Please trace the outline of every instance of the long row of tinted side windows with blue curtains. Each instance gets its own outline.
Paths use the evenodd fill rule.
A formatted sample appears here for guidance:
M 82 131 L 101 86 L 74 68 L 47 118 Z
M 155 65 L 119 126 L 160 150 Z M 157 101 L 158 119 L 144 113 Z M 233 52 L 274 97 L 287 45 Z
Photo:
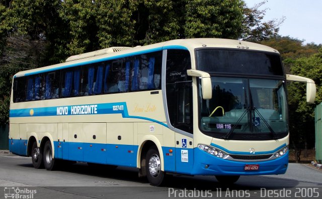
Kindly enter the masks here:
M 162 51 L 15 78 L 14 102 L 161 89 Z

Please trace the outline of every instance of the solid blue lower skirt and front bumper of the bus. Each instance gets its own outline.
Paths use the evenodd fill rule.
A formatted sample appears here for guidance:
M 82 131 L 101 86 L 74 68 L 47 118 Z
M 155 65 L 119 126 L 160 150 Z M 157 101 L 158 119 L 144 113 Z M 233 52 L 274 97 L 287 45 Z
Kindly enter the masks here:
M 27 140 L 10 139 L 10 151 L 18 155 L 26 156 L 26 143 Z M 173 149 L 172 155 L 167 155 L 169 149 Z M 197 147 L 187 149 L 164 146 L 162 150 L 165 171 L 191 175 L 283 174 L 287 169 L 289 154 L 287 152 L 282 157 L 269 161 L 244 162 L 221 159 Z M 188 160 L 186 162 L 181 159 L 182 150 L 188 151 Z M 57 159 L 137 167 L 138 145 L 54 141 L 54 151 L 54 157 Z M 260 169 L 256 171 L 245 171 L 245 164 L 259 164 Z

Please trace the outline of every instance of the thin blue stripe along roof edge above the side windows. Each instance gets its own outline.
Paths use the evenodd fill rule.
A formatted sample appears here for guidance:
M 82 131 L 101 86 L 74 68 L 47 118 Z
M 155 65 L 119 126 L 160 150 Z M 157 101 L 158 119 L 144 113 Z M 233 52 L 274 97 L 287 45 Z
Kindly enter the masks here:
M 94 63 L 109 61 L 109 60 L 113 60 L 113 59 L 121 59 L 124 57 L 135 56 L 135 55 L 140 55 L 140 54 L 144 54 L 144 53 L 153 53 L 156 51 L 170 50 L 170 49 L 188 50 L 188 48 L 186 48 L 184 46 L 179 46 L 179 45 L 164 46 L 164 47 L 158 47 L 158 48 L 153 48 L 153 49 L 149 49 L 149 50 L 127 53 L 127 54 L 123 54 L 123 55 L 117 55 L 117 56 L 113 56 L 113 57 L 107 57 L 107 58 L 102 58 L 102 59 L 97 59 L 97 60 L 92 60 L 92 61 L 87 61 L 87 62 L 81 62 L 81 63 L 60 66 L 60 67 L 56 67 L 56 68 L 44 69 L 41 71 L 26 73 L 22 76 L 29 76 L 29 75 L 39 74 L 39 73 L 46 73 L 46 72 L 56 71 L 56 70 L 60 70 L 60 69 L 66 69 L 66 68 L 71 68 L 71 67 L 76 67 L 76 66 L 87 65 L 87 64 L 94 64 Z M 15 75 L 14 78 L 16 78 L 16 77 L 17 76 Z M 19 77 L 21 77 L 21 76 L 19 75 Z

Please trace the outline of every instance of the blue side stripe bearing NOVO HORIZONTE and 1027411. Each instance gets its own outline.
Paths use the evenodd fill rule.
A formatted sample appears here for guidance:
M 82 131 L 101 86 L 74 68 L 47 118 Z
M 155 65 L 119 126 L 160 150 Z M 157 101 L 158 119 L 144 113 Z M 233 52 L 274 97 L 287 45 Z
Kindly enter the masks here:
M 90 108 L 89 108 L 90 107 Z M 67 112 L 64 112 L 67 108 Z M 84 108 L 87 110 L 80 110 L 77 108 Z M 96 109 L 95 109 L 96 108 Z M 61 114 L 58 113 L 59 110 Z M 75 110 L 76 112 L 73 111 Z M 91 110 L 90 110 L 91 109 Z M 97 111 L 96 113 L 94 111 Z M 85 112 L 86 111 L 86 112 Z M 84 113 L 82 113 L 84 112 Z M 168 128 L 168 125 L 157 121 L 155 119 L 129 115 L 126 102 L 117 102 L 117 103 L 103 103 L 103 104 L 82 104 L 82 105 L 69 105 L 69 106 L 52 106 L 52 107 L 41 107 L 41 108 L 25 108 L 25 109 L 11 109 L 10 117 L 39 117 L 39 116 L 66 116 L 66 115 L 97 115 L 97 114 L 122 114 L 123 118 L 133 118 L 133 119 L 142 119 L 151 122 L 161 124 Z

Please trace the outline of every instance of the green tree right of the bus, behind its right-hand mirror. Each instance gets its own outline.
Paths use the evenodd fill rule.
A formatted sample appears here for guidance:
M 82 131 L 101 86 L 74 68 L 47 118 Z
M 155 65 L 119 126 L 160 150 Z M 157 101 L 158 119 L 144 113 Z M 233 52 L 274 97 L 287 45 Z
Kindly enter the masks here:
M 308 77 L 316 84 L 315 103 L 322 101 L 322 48 L 317 54 L 295 59 L 291 63 L 291 74 Z M 295 148 L 314 146 L 314 107 L 306 103 L 305 84 L 288 84 L 288 103 L 290 109 L 290 139 Z

